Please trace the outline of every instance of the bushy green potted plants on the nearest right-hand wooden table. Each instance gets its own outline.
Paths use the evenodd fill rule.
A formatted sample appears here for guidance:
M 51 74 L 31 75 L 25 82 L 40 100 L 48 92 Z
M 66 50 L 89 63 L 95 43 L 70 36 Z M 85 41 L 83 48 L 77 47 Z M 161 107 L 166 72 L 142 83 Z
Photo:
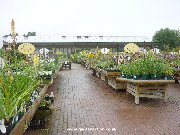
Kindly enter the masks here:
M 173 68 L 170 63 L 161 57 L 156 57 L 149 53 L 145 57 L 132 60 L 129 63 L 122 64 L 120 70 L 128 75 L 172 75 Z

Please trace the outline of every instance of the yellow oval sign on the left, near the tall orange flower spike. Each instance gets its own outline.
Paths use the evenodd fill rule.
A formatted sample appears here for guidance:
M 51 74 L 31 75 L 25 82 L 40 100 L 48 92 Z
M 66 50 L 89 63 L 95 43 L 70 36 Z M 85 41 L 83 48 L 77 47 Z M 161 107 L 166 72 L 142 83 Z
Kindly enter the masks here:
M 34 54 L 35 47 L 30 43 L 23 43 L 19 45 L 18 50 L 23 54 Z

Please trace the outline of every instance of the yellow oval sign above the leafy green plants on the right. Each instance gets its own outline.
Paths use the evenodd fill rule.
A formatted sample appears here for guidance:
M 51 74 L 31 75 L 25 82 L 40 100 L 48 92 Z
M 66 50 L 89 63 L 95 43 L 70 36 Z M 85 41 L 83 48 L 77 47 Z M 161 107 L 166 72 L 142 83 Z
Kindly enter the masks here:
M 138 52 L 138 50 L 139 50 L 139 47 L 136 44 L 134 44 L 134 43 L 129 43 L 129 44 L 127 44 L 124 47 L 124 51 L 126 53 L 133 53 L 133 54 L 135 54 L 136 52 Z

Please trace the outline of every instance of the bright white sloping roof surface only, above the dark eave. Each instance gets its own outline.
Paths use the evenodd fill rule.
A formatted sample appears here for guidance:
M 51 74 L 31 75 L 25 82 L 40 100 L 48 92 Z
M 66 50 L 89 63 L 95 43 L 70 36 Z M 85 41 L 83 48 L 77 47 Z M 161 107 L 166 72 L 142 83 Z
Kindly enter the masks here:
M 4 39 L 6 42 L 12 42 L 8 36 Z M 144 36 L 16 36 L 16 43 L 22 42 L 150 42 Z

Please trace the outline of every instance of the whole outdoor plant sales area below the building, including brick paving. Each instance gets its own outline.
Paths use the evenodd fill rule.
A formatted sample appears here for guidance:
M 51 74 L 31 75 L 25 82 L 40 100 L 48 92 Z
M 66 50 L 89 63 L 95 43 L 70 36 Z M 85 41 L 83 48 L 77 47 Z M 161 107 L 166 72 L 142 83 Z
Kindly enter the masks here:
M 0 49 L 0 135 L 180 135 L 178 45 L 65 54 L 17 44 L 14 29 Z

